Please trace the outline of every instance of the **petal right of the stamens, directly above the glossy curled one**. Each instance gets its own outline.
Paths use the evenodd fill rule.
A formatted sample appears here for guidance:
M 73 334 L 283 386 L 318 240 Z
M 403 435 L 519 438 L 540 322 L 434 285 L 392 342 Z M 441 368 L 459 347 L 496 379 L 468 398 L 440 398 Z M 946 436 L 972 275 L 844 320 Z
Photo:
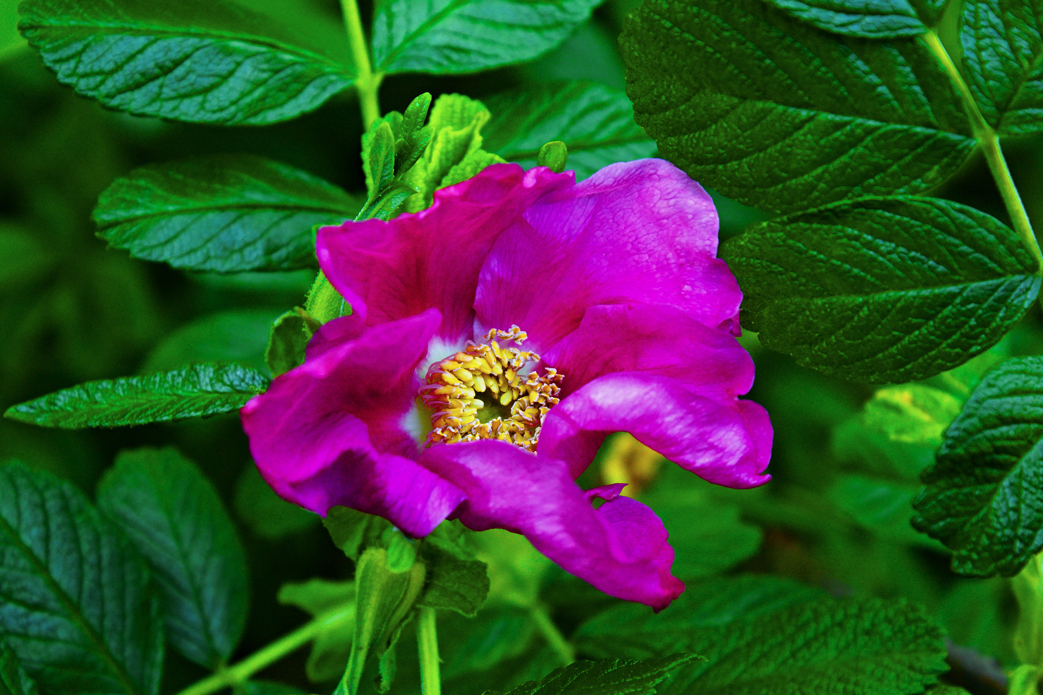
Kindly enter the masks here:
M 753 359 L 735 337 L 666 304 L 599 304 L 579 328 L 543 353 L 564 375 L 562 398 L 612 372 L 669 376 L 709 398 L 735 398 L 753 386 Z

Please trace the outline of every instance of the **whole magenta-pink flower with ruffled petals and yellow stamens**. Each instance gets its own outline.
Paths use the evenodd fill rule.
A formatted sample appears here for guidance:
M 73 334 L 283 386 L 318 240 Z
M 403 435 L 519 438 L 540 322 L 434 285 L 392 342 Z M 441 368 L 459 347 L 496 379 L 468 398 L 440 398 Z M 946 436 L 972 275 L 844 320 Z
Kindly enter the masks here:
M 446 518 L 523 533 L 598 589 L 664 607 L 684 585 L 662 522 L 623 486 L 575 480 L 614 431 L 711 482 L 769 479 L 768 414 L 737 399 L 753 362 L 717 231 L 709 196 L 660 159 L 580 183 L 495 165 L 415 215 L 321 228 L 319 265 L 355 314 L 242 409 L 261 473 L 308 510 L 414 537 Z

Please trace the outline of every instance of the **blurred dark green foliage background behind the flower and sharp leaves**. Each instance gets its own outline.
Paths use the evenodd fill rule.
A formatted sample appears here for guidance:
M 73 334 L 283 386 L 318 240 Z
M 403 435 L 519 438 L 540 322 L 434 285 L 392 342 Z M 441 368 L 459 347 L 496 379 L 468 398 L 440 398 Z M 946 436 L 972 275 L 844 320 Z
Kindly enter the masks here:
M 270 7 L 265 0 L 249 4 L 307 11 L 332 33 L 339 26 L 333 0 L 293 0 L 290 8 L 275 0 Z M 402 110 L 425 91 L 482 99 L 550 79 L 592 79 L 622 88 L 615 36 L 634 4 L 610 0 L 564 45 L 528 65 L 455 78 L 392 76 L 381 91 L 382 108 Z M 363 13 L 365 20 L 365 6 Z M 20 40 L 16 22 L 16 2 L 0 0 L 0 406 L 89 379 L 191 361 L 223 358 L 263 367 L 270 321 L 302 303 L 312 271 L 220 276 L 138 262 L 95 238 L 91 210 L 98 194 L 135 167 L 219 152 L 268 156 L 360 191 L 361 120 L 354 96 L 342 94 L 304 118 L 267 127 L 219 128 L 106 111 L 60 86 Z M 1004 147 L 1029 215 L 1043 224 L 1043 138 Z M 936 195 L 1006 221 L 979 156 Z M 720 199 L 719 204 L 723 235 L 759 219 L 756 210 L 732 201 Z M 744 338 L 744 344 L 757 362 L 751 397 L 768 407 L 776 428 L 774 480 L 756 491 L 727 491 L 660 469 L 662 479 L 650 483 L 646 497 L 666 521 L 679 557 L 687 552 L 684 571 L 695 578 L 720 571 L 772 572 L 840 595 L 907 596 L 939 616 L 955 643 L 1009 663 L 1014 603 L 1008 582 L 952 575 L 941 546 L 915 533 L 907 504 L 895 502 L 905 493 L 907 502 L 915 492 L 917 473 L 933 445 L 922 438 L 896 439 L 887 423 L 873 420 L 872 408 L 863 413 L 872 388 L 797 367 L 784 355 L 761 350 L 755 336 Z M 959 407 L 989 364 L 1041 351 L 1037 307 L 991 353 L 955 375 L 936 377 L 931 386 Z M 877 401 L 889 407 L 887 397 Z M 911 402 L 917 405 L 916 399 Z M 275 601 L 282 584 L 349 576 L 350 563 L 317 519 L 275 498 L 256 474 L 237 417 L 75 432 L 0 421 L 0 457 L 46 468 L 89 493 L 119 449 L 166 444 L 201 466 L 241 524 L 253 586 L 240 655 L 305 620 L 297 609 Z M 590 482 L 598 481 L 599 470 L 596 466 Z M 717 525 L 708 526 L 705 518 Z M 746 550 L 730 557 L 736 544 Z M 561 573 L 547 573 L 541 586 L 543 600 L 566 631 L 606 604 L 597 592 Z M 475 623 L 459 617 L 444 622 L 443 648 L 452 663 L 454 650 L 466 648 Z M 538 674 L 554 666 L 540 661 L 536 643 L 516 650 L 494 668 Z M 169 653 L 165 691 L 204 675 Z M 306 657 L 301 650 L 263 675 L 310 688 Z M 406 690 L 414 688 L 406 681 L 415 682 L 409 668 L 406 656 Z M 451 682 L 453 674 L 448 666 Z M 460 685 L 455 692 L 466 690 Z

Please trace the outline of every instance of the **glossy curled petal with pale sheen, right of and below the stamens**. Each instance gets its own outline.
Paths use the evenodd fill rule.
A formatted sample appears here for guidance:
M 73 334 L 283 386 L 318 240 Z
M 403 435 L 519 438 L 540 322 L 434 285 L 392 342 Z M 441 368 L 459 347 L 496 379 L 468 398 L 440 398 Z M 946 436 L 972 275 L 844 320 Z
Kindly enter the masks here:
M 772 427 L 752 401 L 718 400 L 635 372 L 601 376 L 551 408 L 536 451 L 578 477 L 612 432 L 626 431 L 701 478 L 729 488 L 768 482 Z

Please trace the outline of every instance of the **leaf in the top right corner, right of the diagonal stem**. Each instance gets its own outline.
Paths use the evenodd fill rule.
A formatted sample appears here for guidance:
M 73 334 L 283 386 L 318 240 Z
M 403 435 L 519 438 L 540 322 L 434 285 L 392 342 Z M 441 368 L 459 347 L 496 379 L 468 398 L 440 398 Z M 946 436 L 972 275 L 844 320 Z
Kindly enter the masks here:
M 978 109 L 1001 134 L 1043 128 L 1043 3 L 966 0 L 963 68 Z

